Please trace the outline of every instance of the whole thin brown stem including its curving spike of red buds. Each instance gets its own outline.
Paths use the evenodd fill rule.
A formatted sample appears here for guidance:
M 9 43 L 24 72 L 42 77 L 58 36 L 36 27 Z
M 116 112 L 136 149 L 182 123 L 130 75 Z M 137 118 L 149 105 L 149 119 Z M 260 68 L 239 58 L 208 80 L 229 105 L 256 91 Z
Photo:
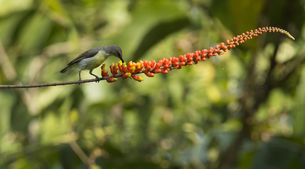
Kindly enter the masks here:
M 281 32 L 281 33 L 287 35 L 289 38 L 294 40 L 292 35 L 290 35 L 289 32 L 287 32 L 283 29 L 274 28 L 274 27 L 265 27 L 265 28 L 262 28 L 262 29 L 259 28 L 258 30 L 255 29 L 254 32 L 253 32 L 253 30 L 251 30 L 250 32 L 246 32 L 246 34 L 243 33 L 242 35 L 237 35 L 236 37 L 231 38 L 230 40 L 227 40 L 227 42 L 226 42 L 227 45 L 225 45 L 224 43 L 221 43 L 221 46 L 217 45 L 215 47 L 215 49 L 210 47 L 209 50 L 204 49 L 201 52 L 200 51 L 195 51 L 195 54 L 194 53 L 188 53 L 187 55 L 183 55 L 183 56 L 181 55 L 182 59 L 180 59 L 180 56 L 179 56 L 179 59 L 178 58 L 174 59 L 175 61 L 173 61 L 173 58 L 170 57 L 168 60 L 166 59 L 166 63 L 163 63 L 163 60 L 161 60 L 162 63 L 160 63 L 160 64 L 158 63 L 159 65 L 156 68 L 155 68 L 155 66 L 157 64 L 156 64 L 155 61 L 153 61 L 154 62 L 153 65 L 151 65 L 152 62 L 146 62 L 145 61 L 146 62 L 146 63 L 144 63 L 145 65 L 143 65 L 143 62 L 140 64 L 140 65 L 142 65 L 142 67 L 144 66 L 145 70 L 139 71 L 139 69 L 138 69 L 139 66 L 138 65 L 137 65 L 137 68 L 132 68 L 133 70 L 131 68 L 128 68 L 128 70 L 127 70 L 126 69 L 127 65 L 124 65 L 124 66 L 126 66 L 126 67 L 124 67 L 124 71 L 122 71 L 120 69 L 122 74 L 117 74 L 117 68 L 118 68 L 117 66 L 118 65 L 116 64 L 116 73 L 112 72 L 113 74 L 115 74 L 114 76 L 108 76 L 108 72 L 106 72 L 107 75 L 102 74 L 102 76 L 105 76 L 105 75 L 106 76 L 103 77 L 103 78 L 99 78 L 99 80 L 106 80 L 106 79 L 109 79 L 109 78 L 117 78 L 117 77 L 122 77 L 122 76 L 125 79 L 126 77 L 124 77 L 125 74 L 123 74 L 123 72 L 129 73 L 129 75 L 127 75 L 128 77 L 130 77 L 130 75 L 135 75 L 135 74 L 139 74 L 139 73 L 145 73 L 147 76 L 153 77 L 154 74 L 152 74 L 152 73 L 167 73 L 168 70 L 171 70 L 171 69 L 174 69 L 174 68 L 181 69 L 181 66 L 192 65 L 193 63 L 197 64 L 199 60 L 206 60 L 206 58 L 210 59 L 210 57 L 217 56 L 217 54 L 221 55 L 224 52 L 226 52 L 227 49 L 230 50 L 232 48 L 235 48 L 239 44 L 245 42 L 247 39 L 252 39 L 252 36 L 258 36 L 258 35 L 262 34 L 263 32 L 264 33 L 266 33 L 266 32 Z M 182 60 L 184 60 L 184 61 L 182 61 Z M 180 63 L 183 63 L 183 64 L 180 64 Z M 161 66 L 162 64 L 163 64 L 163 66 Z M 114 65 L 112 65 L 112 66 L 114 66 Z M 177 66 L 180 66 L 180 67 L 178 68 Z M 142 67 L 140 67 L 140 69 L 142 69 Z M 113 68 L 114 67 L 111 68 L 112 69 L 111 71 L 113 71 Z M 121 68 L 123 69 L 123 67 L 121 67 Z M 136 73 L 135 73 L 135 69 L 137 69 Z M 165 71 L 163 72 L 163 70 L 161 71 L 161 69 L 164 69 Z M 107 71 L 106 68 L 104 70 Z M 155 72 L 155 70 L 156 70 L 156 72 Z M 103 70 L 102 70 L 102 72 L 103 72 Z M 150 72 L 150 73 L 148 73 L 148 72 Z M 142 80 L 141 79 L 135 79 L 135 80 L 142 81 L 144 79 L 142 79 Z M 96 81 L 96 79 L 83 80 L 82 82 L 87 83 L 87 82 L 94 82 L 94 81 Z M 79 81 L 59 82 L 59 83 L 43 83 L 43 84 L 31 84 L 31 85 L 0 85 L 0 88 L 33 88 L 33 87 L 43 87 L 43 86 L 67 85 L 67 84 L 79 84 Z

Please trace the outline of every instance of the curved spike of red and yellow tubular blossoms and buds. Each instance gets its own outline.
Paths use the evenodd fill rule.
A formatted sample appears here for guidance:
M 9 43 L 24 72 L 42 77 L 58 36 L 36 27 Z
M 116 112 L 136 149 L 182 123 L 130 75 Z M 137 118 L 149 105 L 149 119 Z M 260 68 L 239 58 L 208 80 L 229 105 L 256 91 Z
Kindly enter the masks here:
M 130 61 L 129 63 L 112 63 L 110 66 L 110 72 L 113 74 L 112 77 L 107 79 L 107 82 L 114 82 L 117 80 L 115 77 L 122 77 L 123 79 L 127 79 L 128 77 L 132 77 L 134 80 L 138 82 L 143 81 L 144 79 L 140 76 L 136 76 L 135 74 L 144 73 L 148 77 L 154 77 L 154 74 L 163 73 L 166 74 L 168 71 L 172 69 L 181 69 L 182 66 L 192 65 L 199 63 L 200 60 L 205 61 L 206 59 L 210 59 L 212 56 L 221 55 L 227 50 L 231 48 L 235 48 L 239 46 L 240 43 L 246 42 L 248 39 L 252 39 L 253 36 L 258 36 L 262 33 L 266 32 L 281 32 L 286 34 L 290 38 L 294 39 L 287 31 L 274 27 L 265 27 L 251 30 L 250 32 L 242 33 L 242 35 L 237 35 L 231 39 L 226 40 L 225 43 L 221 43 L 220 45 L 216 45 L 215 49 L 210 47 L 209 49 L 203 49 L 195 51 L 194 53 L 187 53 L 185 55 L 180 55 L 179 57 L 169 57 L 168 59 L 163 58 L 156 62 L 152 61 L 142 61 L 135 63 Z M 118 74 L 118 70 L 122 74 Z M 108 71 L 106 70 L 105 64 L 102 66 L 102 77 L 108 77 Z

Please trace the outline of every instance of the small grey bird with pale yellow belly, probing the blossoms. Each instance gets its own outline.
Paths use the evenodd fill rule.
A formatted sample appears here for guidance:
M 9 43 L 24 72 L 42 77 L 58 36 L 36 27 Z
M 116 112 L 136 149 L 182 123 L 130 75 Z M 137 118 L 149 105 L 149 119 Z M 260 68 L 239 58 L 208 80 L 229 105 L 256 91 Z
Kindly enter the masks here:
M 81 71 L 89 70 L 89 73 L 95 76 L 95 82 L 99 82 L 99 76 L 92 74 L 92 70 L 99 67 L 109 56 L 118 57 L 124 63 L 122 57 L 122 49 L 120 48 L 120 46 L 101 46 L 89 49 L 81 55 L 77 56 L 77 58 L 73 59 L 70 63 L 68 63 L 68 66 L 65 69 L 61 70 L 60 73 L 65 73 L 69 69 L 78 68 L 78 84 L 80 85 L 81 83 L 83 83 L 81 80 Z

